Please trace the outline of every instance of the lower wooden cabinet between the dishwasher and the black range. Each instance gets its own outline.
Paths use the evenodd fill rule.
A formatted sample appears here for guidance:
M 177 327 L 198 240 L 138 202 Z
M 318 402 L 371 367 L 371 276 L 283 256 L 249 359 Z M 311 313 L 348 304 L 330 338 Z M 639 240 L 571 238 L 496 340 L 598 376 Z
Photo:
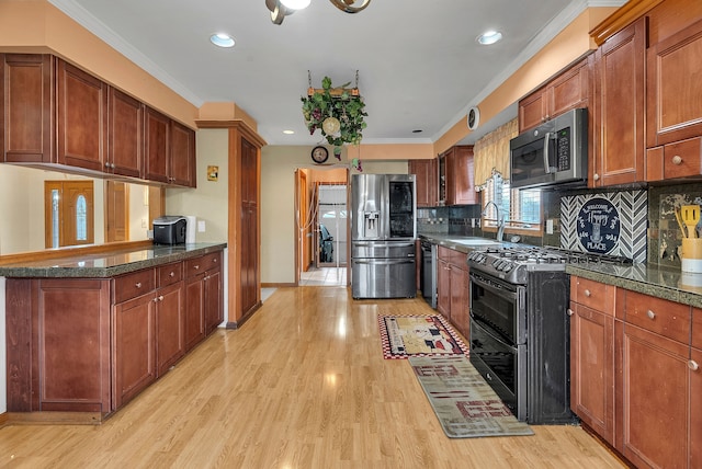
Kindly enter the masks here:
M 469 294 L 467 254 L 453 249 L 438 247 L 437 310 L 453 327 L 469 338 Z

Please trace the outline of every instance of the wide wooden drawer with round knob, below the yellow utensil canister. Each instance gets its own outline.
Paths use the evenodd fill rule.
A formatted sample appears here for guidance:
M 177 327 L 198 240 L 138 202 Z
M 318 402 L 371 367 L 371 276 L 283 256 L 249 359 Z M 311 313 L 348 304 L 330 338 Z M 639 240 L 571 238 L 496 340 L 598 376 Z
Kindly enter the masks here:
M 690 307 L 626 291 L 624 321 L 684 344 L 690 343 Z

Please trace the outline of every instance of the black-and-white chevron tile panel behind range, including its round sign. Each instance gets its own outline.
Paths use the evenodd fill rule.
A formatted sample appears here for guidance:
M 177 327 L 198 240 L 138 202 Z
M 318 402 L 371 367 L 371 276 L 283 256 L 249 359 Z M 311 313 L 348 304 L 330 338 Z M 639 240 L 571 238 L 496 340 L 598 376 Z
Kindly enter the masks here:
M 561 247 L 646 262 L 648 193 L 623 191 L 561 197 Z

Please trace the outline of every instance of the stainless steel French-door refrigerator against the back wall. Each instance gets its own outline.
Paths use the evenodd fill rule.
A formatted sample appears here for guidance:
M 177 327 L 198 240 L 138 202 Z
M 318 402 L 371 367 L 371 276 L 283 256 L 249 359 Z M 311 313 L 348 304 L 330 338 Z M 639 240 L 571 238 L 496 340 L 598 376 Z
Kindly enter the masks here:
M 414 298 L 415 175 L 352 175 L 350 215 L 353 298 Z

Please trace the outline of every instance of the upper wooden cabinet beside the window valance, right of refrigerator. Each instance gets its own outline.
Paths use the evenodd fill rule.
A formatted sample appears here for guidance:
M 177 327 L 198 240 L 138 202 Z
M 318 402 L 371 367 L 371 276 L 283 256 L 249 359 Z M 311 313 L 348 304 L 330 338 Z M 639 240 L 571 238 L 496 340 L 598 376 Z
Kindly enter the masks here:
M 439 203 L 478 204 L 473 146 L 458 145 L 439 156 Z

